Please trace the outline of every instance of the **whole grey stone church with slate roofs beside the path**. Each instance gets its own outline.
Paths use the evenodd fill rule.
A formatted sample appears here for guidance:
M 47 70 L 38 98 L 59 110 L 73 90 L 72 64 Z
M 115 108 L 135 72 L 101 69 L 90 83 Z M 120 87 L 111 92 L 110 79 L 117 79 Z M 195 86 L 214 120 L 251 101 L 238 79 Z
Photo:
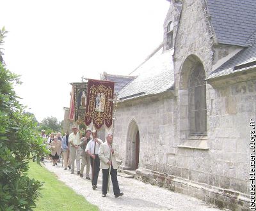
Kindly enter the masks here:
M 170 0 L 163 27 L 163 43 L 129 76 L 102 75 L 118 86 L 120 169 L 220 208 L 248 210 L 256 1 Z

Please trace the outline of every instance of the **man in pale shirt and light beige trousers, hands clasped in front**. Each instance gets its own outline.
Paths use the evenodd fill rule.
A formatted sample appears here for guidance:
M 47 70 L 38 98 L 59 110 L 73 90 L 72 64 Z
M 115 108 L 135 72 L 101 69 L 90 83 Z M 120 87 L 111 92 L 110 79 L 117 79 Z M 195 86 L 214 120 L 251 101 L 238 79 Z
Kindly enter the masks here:
M 81 148 L 80 148 L 80 135 L 77 132 L 77 127 L 72 126 L 72 131 L 68 136 L 68 143 L 70 146 L 70 163 L 71 163 L 71 173 L 74 173 L 75 170 L 75 159 L 76 159 L 76 169 L 77 175 L 80 175 L 80 156 L 81 156 Z

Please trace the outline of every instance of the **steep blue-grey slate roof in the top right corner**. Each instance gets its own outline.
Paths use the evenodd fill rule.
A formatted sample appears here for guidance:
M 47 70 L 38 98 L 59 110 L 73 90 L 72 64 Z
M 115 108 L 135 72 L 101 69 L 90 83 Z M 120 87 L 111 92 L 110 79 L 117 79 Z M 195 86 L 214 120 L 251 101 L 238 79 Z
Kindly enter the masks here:
M 207 0 L 219 43 L 249 47 L 256 41 L 255 0 Z

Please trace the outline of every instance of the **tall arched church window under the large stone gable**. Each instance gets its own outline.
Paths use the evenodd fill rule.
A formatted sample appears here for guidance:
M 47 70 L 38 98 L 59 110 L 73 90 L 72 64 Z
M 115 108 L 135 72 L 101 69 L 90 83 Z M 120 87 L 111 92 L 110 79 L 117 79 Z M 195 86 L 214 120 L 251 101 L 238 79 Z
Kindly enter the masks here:
M 191 72 L 188 92 L 189 135 L 206 135 L 206 83 L 202 64 L 198 64 Z

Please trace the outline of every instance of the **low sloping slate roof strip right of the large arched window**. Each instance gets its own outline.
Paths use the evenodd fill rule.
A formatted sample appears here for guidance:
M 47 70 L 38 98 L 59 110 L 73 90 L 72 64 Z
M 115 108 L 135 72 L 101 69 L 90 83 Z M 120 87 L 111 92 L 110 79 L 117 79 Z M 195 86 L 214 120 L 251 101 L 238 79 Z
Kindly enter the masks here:
M 236 73 L 252 68 L 253 66 L 256 66 L 256 42 L 251 47 L 244 48 L 238 52 L 234 57 L 214 70 L 206 79 Z

